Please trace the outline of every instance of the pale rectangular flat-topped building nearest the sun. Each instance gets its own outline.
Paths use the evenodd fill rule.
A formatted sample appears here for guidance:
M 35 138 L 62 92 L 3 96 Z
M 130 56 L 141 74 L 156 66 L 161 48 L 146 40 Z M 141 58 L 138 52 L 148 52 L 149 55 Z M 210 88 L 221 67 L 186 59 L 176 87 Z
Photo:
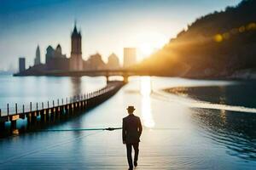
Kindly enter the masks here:
M 124 48 L 124 67 L 136 64 L 136 48 Z

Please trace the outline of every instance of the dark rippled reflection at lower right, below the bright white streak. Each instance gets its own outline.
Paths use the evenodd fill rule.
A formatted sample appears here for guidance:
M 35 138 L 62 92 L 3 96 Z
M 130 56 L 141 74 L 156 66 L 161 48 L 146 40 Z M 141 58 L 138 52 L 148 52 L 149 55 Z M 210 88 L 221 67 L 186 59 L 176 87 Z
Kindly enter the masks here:
M 255 114 L 197 109 L 192 117 L 207 138 L 229 149 L 229 155 L 256 161 Z

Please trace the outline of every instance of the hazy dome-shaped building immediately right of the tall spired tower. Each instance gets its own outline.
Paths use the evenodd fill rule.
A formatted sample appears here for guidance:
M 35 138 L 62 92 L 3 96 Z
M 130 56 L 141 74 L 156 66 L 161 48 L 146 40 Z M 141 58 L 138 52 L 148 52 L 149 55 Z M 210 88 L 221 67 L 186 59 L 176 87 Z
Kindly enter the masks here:
M 85 70 L 103 70 L 106 69 L 106 64 L 102 60 L 101 54 L 90 55 L 90 58 L 86 61 Z

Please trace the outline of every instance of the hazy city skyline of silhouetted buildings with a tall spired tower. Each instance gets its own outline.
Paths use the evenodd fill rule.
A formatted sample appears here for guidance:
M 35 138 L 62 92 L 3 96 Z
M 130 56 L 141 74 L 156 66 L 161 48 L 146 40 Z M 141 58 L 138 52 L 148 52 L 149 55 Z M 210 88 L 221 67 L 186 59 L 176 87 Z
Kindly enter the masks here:
M 71 54 L 67 58 L 67 54 L 62 54 L 61 44 L 56 48 L 49 45 L 46 48 L 46 54 L 43 59 L 45 63 L 41 63 L 40 48 L 36 49 L 36 57 L 34 65 L 26 66 L 26 58 L 19 58 L 19 71 L 15 75 L 42 75 L 49 71 L 99 71 L 99 70 L 116 70 L 121 68 L 119 58 L 116 54 L 108 57 L 108 62 L 102 60 L 101 54 L 91 54 L 89 59 L 82 58 L 83 38 L 81 32 L 78 31 L 75 23 L 73 33 L 71 35 Z M 132 66 L 136 64 L 136 48 L 124 48 L 124 65 Z

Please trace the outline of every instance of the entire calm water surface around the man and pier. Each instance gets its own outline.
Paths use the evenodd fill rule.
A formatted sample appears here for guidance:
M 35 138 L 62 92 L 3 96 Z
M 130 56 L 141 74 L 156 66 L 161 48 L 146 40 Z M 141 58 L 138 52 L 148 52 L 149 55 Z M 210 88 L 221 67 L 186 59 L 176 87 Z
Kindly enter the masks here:
M 3 106 L 6 102 L 65 98 L 105 85 L 103 77 L 0 80 Z M 49 129 L 120 127 L 126 106 L 135 105 L 135 114 L 143 122 L 137 169 L 253 169 L 256 115 L 252 109 L 256 105 L 248 94 L 255 93 L 254 84 L 131 77 L 118 94 L 102 105 Z M 251 88 L 241 88 L 245 85 Z M 161 90 L 175 87 L 186 88 L 187 93 L 169 94 Z M 220 88 L 225 90 L 220 93 Z M 11 136 L 0 139 L 0 169 L 127 169 L 121 140 L 120 130 Z

